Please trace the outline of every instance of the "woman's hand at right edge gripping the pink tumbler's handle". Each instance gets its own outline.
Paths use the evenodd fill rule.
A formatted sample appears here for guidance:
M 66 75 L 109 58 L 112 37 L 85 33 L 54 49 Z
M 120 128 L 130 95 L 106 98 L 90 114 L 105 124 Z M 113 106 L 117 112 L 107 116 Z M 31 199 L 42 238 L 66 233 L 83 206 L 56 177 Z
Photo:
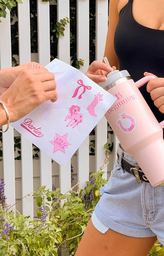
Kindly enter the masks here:
M 145 76 L 153 75 L 151 73 L 145 72 Z M 154 105 L 164 114 L 164 78 L 155 76 L 148 82 L 147 91 L 150 92 L 151 99 L 154 101 Z

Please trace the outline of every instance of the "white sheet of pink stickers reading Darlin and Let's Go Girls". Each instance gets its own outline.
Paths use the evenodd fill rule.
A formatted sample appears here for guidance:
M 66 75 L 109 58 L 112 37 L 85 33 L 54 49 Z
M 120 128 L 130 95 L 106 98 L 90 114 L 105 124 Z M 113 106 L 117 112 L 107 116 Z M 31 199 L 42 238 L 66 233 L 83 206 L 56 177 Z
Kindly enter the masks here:
M 46 68 L 55 74 L 57 101 L 44 102 L 11 126 L 66 166 L 116 98 L 61 60 L 52 60 Z

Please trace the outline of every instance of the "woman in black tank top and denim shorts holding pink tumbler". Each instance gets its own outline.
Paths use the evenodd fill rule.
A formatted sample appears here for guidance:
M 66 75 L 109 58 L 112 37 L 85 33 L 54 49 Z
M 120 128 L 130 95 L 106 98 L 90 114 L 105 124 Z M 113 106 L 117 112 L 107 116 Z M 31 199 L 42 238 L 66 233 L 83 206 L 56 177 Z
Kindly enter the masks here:
M 163 46 L 163 0 L 110 0 L 104 56 L 117 69 L 128 70 L 134 81 L 156 76 L 140 91 L 158 121 L 164 116 L 164 78 L 158 78 L 164 77 Z M 109 71 L 108 65 L 93 62 L 86 75 L 98 83 Z M 124 160 L 137 162 L 121 146 L 118 159 L 75 256 L 145 256 L 156 239 L 164 246 L 164 186 L 137 183 L 123 170 Z

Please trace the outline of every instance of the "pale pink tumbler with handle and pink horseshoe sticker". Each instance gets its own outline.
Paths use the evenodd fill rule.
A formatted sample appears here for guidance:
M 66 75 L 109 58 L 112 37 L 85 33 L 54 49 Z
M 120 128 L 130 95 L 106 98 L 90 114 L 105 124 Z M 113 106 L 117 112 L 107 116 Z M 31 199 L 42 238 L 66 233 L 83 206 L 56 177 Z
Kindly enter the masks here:
M 156 120 L 139 87 L 154 76 L 145 76 L 136 83 L 127 70 L 115 70 L 99 85 L 117 100 L 108 109 L 106 119 L 124 150 L 131 154 L 152 186 L 164 181 L 164 121 Z

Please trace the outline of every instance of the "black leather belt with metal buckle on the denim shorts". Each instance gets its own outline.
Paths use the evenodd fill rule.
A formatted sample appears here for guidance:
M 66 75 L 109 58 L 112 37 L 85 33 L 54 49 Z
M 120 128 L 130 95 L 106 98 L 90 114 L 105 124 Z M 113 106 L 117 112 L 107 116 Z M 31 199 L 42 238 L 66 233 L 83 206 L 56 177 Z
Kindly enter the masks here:
M 118 163 L 119 163 L 120 156 L 118 153 L 117 153 L 117 157 L 118 157 Z M 147 177 L 144 175 L 144 172 L 140 169 L 139 165 L 128 162 L 128 160 L 126 160 L 124 157 L 122 157 L 121 159 L 121 168 L 124 171 L 136 177 L 137 183 L 142 183 L 142 182 L 150 183 Z

